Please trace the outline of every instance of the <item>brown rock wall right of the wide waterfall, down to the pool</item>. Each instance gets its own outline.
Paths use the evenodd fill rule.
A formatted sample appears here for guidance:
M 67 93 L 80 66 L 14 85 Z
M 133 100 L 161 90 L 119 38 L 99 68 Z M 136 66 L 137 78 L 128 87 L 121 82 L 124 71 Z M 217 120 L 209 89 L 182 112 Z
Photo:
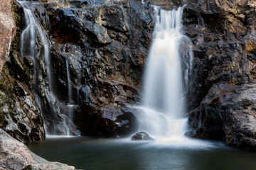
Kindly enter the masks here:
M 255 1 L 190 1 L 185 32 L 195 51 L 188 96 L 191 135 L 255 143 Z

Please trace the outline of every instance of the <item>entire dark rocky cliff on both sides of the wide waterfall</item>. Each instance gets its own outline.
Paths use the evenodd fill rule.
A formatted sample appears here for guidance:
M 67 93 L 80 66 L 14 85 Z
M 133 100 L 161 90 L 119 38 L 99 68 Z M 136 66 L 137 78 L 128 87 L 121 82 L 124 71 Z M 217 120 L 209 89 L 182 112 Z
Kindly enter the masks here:
M 159 4 L 154 0 L 148 2 Z M 187 4 L 183 11 L 183 30 L 191 38 L 195 54 L 191 93 L 187 96 L 190 135 L 253 148 L 256 4 L 250 0 L 170 0 L 162 1 L 161 5 L 176 8 L 182 4 Z M 24 111 L 31 113 L 38 110 L 36 104 L 32 105 L 36 103 L 36 93 L 41 98 L 39 107 L 49 133 L 63 132 L 62 123 L 67 121 L 67 116 L 62 113 L 67 111 L 64 106 L 70 105 L 74 108 L 70 131 L 73 134 L 80 130 L 82 135 L 109 137 L 136 130 L 137 111 L 129 106 L 140 102 L 143 67 L 154 28 L 153 9 L 132 0 L 48 0 L 31 1 L 27 5 L 50 42 L 54 90 L 49 90 L 42 41 L 36 44 L 36 60 L 40 63 L 36 67 L 36 82 L 33 60 L 20 55 L 19 40 L 24 24 L 23 11 L 17 6 L 16 13 L 21 17 L 16 21 L 20 29 L 6 64 L 6 77 L 13 77 L 9 82 L 16 84 L 16 88 L 11 88 L 18 90 L 11 90 L 10 96 L 15 91 L 16 98 L 26 96 L 31 105 Z M 11 116 L 3 120 L 18 122 Z M 41 127 L 38 136 L 43 136 L 42 120 L 39 117 L 34 120 Z

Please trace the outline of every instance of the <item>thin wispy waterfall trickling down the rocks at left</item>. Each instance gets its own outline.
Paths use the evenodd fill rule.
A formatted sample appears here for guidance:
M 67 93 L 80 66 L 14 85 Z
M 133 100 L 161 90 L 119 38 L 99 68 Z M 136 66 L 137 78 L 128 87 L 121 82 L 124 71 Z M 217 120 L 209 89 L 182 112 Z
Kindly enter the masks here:
M 68 60 L 66 60 L 68 101 L 63 104 L 60 103 L 60 100 L 56 96 L 57 92 L 53 86 L 54 79 L 50 65 L 50 40 L 47 38 L 46 30 L 41 28 L 27 1 L 18 1 L 18 3 L 21 4 L 21 7 L 23 8 L 26 20 L 26 28 L 21 34 L 21 55 L 22 57 L 31 57 L 33 59 L 33 92 L 36 96 L 36 102 L 41 110 L 46 136 L 80 135 L 79 130 L 76 130 L 76 126 L 73 124 L 75 105 L 71 105 L 71 103 L 73 103 L 73 91 L 70 81 Z M 42 59 L 40 58 L 41 50 L 38 49 L 40 47 L 37 47 L 37 44 L 43 45 L 43 65 L 43 62 L 41 62 Z M 40 84 L 39 82 L 43 79 L 43 70 L 46 70 L 48 86 L 42 86 L 41 84 L 44 83 Z M 46 89 L 47 87 L 48 89 Z M 49 105 L 48 111 L 46 111 L 45 107 L 47 106 L 45 106 L 45 103 L 48 103 Z M 48 114 L 48 116 L 46 116 L 46 114 Z M 58 120 L 58 124 L 55 124 L 55 122 L 57 122 L 56 120 Z M 53 125 L 50 125 L 49 121 L 52 121 Z

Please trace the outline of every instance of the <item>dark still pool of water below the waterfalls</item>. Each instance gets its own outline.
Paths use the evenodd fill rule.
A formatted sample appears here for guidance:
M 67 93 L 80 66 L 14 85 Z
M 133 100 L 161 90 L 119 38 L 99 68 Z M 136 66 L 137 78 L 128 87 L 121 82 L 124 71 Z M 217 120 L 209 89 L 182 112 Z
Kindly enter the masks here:
M 255 152 L 230 148 L 214 141 L 188 140 L 178 144 L 52 137 L 27 146 L 48 161 L 63 162 L 76 169 L 256 169 Z

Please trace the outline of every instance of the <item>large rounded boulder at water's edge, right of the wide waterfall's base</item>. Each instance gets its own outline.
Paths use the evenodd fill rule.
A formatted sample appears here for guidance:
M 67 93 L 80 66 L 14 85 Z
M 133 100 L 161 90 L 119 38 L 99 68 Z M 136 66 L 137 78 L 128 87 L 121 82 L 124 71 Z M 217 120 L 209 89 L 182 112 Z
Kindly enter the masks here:
M 255 149 L 255 84 L 214 85 L 200 108 L 189 116 L 191 135 L 225 140 L 228 145 Z

